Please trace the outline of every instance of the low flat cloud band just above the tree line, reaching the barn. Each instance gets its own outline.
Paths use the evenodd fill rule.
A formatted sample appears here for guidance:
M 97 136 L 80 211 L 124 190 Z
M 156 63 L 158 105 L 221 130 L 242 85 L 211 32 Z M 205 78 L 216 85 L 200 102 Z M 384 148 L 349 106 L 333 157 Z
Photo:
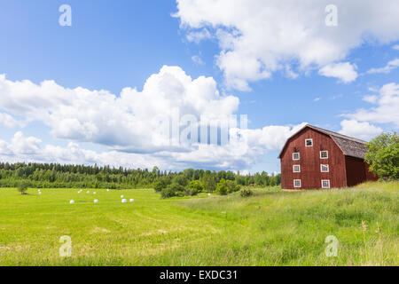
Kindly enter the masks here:
M 111 165 L 113 167 L 182 170 L 189 167 L 242 170 L 258 162 L 267 151 L 278 150 L 286 139 L 306 123 L 293 126 L 267 126 L 262 130 L 232 129 L 242 139 L 227 145 L 198 144 L 191 151 L 160 151 L 157 153 L 127 153 L 116 150 L 95 152 L 82 149 L 77 143 L 67 146 L 44 145 L 35 137 L 15 133 L 11 142 L 0 140 L 0 160 L 8 162 L 59 162 L 66 164 Z

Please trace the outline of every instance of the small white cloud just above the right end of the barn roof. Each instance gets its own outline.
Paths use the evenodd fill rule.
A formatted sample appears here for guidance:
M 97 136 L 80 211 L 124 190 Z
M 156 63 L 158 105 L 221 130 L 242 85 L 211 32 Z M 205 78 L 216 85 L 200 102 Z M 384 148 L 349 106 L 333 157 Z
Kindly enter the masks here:
M 369 122 L 357 122 L 356 120 L 344 120 L 340 122 L 340 126 L 341 134 L 364 140 L 370 140 L 382 132 L 382 129 Z

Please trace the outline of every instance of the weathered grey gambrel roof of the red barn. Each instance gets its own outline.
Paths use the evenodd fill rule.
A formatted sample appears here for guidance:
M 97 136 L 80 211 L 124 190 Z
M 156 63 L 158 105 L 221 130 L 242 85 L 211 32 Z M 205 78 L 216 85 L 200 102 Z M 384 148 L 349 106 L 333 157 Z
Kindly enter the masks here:
M 330 136 L 330 138 L 332 138 L 335 144 L 337 144 L 337 146 L 340 147 L 340 150 L 344 155 L 364 159 L 364 154 L 367 152 L 367 148 L 364 146 L 365 143 L 364 140 L 342 135 L 340 133 L 332 132 L 330 130 L 324 130 L 322 128 L 310 124 L 305 125 L 304 127 L 301 128 L 301 130 L 304 130 L 306 128 L 310 128 L 312 130 L 316 130 L 318 132 Z M 293 134 L 293 136 L 301 132 L 301 130 L 297 131 L 295 134 Z M 291 138 L 293 138 L 293 136 L 291 136 L 286 140 L 286 145 L 281 150 L 281 153 L 278 155 L 278 158 L 281 158 L 281 154 L 283 154 L 284 150 L 286 149 L 288 141 Z

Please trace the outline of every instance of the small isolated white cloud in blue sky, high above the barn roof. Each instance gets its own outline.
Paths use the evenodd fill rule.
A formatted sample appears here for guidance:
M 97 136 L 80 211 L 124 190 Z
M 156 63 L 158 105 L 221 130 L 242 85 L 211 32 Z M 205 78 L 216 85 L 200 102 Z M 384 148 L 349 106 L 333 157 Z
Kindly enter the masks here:
M 318 70 L 318 74 L 325 77 L 338 78 L 342 83 L 351 83 L 357 78 L 356 68 L 356 65 L 352 65 L 349 62 L 332 63 Z

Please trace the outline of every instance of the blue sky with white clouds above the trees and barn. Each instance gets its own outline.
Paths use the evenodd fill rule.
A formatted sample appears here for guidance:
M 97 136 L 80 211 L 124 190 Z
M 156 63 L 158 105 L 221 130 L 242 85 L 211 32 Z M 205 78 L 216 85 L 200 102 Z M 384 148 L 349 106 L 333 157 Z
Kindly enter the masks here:
M 5 75 L 0 85 L 0 159 L 272 172 L 279 171 L 279 148 L 301 123 L 363 139 L 381 130 L 397 130 L 398 4 L 387 0 L 384 8 L 365 1 L 363 15 L 356 12 L 356 4 L 335 2 L 338 26 L 325 28 L 327 2 L 323 1 L 308 1 L 300 8 L 293 1 L 285 6 L 278 1 L 237 1 L 235 7 L 228 1 L 216 7 L 210 0 L 200 4 L 190 0 L 4 1 L 0 4 L 0 74 Z M 59 25 L 61 4 L 72 8 L 71 27 Z M 299 17 L 296 22 L 289 17 L 291 12 L 308 15 L 309 11 L 317 15 L 315 19 L 302 22 Z M 380 20 L 381 13 L 385 21 Z M 150 91 L 143 91 L 152 75 L 158 75 L 153 79 L 156 90 L 148 83 Z M 189 85 L 201 76 L 211 78 L 215 90 L 208 80 L 200 91 L 211 91 L 201 92 L 200 101 L 210 98 L 217 104 L 214 109 L 196 108 L 200 102 L 194 99 L 182 103 L 181 112 L 195 109 L 194 114 L 200 115 L 221 109 L 223 114 L 247 114 L 252 130 L 248 153 L 231 156 L 233 148 L 171 150 L 137 141 L 140 136 L 145 140 L 152 129 L 148 126 L 140 132 L 130 126 L 145 124 L 149 119 L 145 114 L 162 109 L 154 105 L 157 100 L 165 101 L 163 107 L 168 108 L 165 98 L 184 98 L 196 87 Z M 169 77 L 187 83 L 178 89 L 186 91 L 176 94 L 169 83 L 160 85 Z M 24 80 L 31 84 L 23 84 Z M 149 102 L 142 105 L 140 116 L 140 101 L 131 99 L 136 95 L 130 91 L 127 96 L 132 97 L 122 103 L 135 106 L 122 107 L 126 114 L 121 116 L 104 115 L 130 126 L 119 132 L 114 125 L 110 126 L 114 132 L 103 130 L 106 120 L 96 105 L 102 96 L 86 104 L 79 101 L 82 91 L 66 91 L 65 102 L 57 88 L 40 88 L 46 80 L 64 90 L 105 90 L 115 98 L 126 87 L 137 88 Z M 215 91 L 219 94 L 212 97 Z M 227 97 L 231 100 L 223 100 Z M 113 112 L 122 111 L 120 105 L 115 103 Z M 82 107 L 79 114 L 87 115 L 75 118 L 67 106 Z M 96 114 L 90 116 L 91 111 Z

